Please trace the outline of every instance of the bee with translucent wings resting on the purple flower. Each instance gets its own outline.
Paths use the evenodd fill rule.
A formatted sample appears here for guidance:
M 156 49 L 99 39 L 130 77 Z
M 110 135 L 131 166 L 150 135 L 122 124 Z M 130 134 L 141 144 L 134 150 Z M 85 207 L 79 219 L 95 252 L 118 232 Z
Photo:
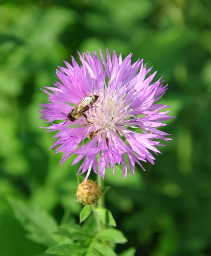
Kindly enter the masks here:
M 88 111 L 88 109 L 97 101 L 98 97 L 99 96 L 97 95 L 86 96 L 78 103 L 78 105 L 72 108 L 71 112 L 69 112 L 67 116 L 64 113 L 63 114 L 67 117 L 67 120 L 70 120 L 71 122 L 74 122 L 80 116 L 84 116 L 86 118 L 86 122 L 91 124 L 91 122 L 87 120 L 85 112 Z

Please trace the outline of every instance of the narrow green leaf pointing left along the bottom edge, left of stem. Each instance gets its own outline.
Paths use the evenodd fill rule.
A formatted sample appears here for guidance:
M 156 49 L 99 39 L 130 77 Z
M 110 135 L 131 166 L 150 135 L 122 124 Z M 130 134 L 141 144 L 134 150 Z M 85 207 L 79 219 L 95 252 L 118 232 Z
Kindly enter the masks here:
M 87 247 L 80 244 L 61 244 L 46 250 L 46 253 L 58 254 L 58 255 L 74 255 L 77 253 L 84 253 Z

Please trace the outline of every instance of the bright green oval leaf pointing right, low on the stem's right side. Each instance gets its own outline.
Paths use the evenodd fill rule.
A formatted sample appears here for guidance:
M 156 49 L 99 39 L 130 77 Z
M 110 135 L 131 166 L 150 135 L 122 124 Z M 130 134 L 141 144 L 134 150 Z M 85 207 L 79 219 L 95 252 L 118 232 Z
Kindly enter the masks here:
M 101 230 L 98 234 L 97 234 L 97 238 L 103 241 L 114 241 L 117 244 L 124 244 L 127 242 L 127 239 L 125 238 L 125 236 L 123 235 L 123 233 L 120 230 L 116 230 L 116 229 L 105 229 L 105 230 Z

